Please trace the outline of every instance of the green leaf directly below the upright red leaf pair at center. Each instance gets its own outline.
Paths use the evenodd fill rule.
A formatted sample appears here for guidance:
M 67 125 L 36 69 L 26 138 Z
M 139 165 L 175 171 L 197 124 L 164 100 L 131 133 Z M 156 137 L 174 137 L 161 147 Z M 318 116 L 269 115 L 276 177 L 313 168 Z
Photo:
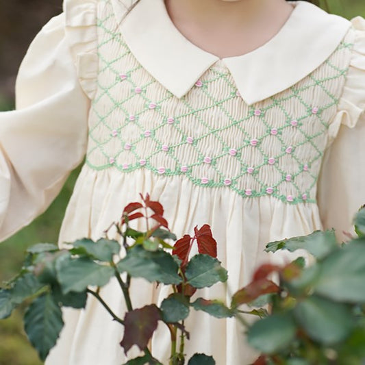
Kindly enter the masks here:
M 227 270 L 221 266 L 221 262 L 210 255 L 201 254 L 195 255 L 188 262 L 185 275 L 194 288 L 206 288 L 228 279 Z

